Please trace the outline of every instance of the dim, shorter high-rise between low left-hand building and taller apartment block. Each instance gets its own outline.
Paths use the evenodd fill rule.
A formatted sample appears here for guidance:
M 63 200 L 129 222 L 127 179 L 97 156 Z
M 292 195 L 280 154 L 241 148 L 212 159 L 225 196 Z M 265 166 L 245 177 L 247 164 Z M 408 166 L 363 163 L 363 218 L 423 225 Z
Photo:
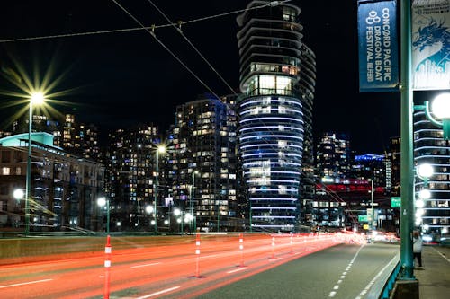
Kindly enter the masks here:
M 104 191 L 110 198 L 111 222 L 120 220 L 124 231 L 152 230 L 145 207 L 154 205 L 157 127 L 117 129 L 108 139 Z

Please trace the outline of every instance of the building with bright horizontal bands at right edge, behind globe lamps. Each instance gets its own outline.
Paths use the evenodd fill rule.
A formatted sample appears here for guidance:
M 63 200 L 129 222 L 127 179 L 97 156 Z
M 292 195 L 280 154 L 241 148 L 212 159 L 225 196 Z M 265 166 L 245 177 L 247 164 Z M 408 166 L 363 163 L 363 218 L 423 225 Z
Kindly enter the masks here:
M 424 199 L 424 207 L 416 207 L 427 233 L 445 234 L 450 228 L 450 142 L 444 140 L 442 128 L 433 125 L 425 112 L 414 113 L 414 162 L 429 163 L 434 175 L 428 184 L 416 176 L 415 190 L 419 198 L 421 189 L 429 189 L 431 197 Z M 422 213 L 421 213 L 422 212 Z

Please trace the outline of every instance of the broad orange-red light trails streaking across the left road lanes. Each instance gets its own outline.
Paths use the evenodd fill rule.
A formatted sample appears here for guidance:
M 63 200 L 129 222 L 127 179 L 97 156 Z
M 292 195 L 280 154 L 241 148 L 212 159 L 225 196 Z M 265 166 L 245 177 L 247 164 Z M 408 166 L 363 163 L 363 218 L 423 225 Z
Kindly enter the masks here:
M 119 250 L 114 248 L 117 240 L 112 241 L 111 295 L 123 295 L 132 289 L 133 298 L 176 297 L 178 293 L 192 297 L 342 242 L 337 241 L 336 235 L 246 235 L 245 250 L 240 251 L 238 235 L 202 235 L 201 238 L 199 274 L 208 279 L 193 279 L 197 260 L 194 235 L 169 236 L 164 242 L 148 237 L 143 246 L 133 244 L 131 249 L 121 247 Z M 273 238 L 275 246 L 271 245 Z M 0 267 L 0 278 L 4 282 L 10 280 L 8 286 L 15 286 L 4 288 L 2 296 L 26 298 L 33 294 L 33 298 L 68 299 L 74 295 L 78 298 L 102 295 L 103 279 L 99 277 L 103 277 L 104 256 L 89 254 L 92 252 L 86 254 L 85 259 L 55 259 Z M 246 267 L 236 268 L 241 259 L 245 259 Z M 51 287 L 13 284 L 18 277 L 30 273 L 36 278 L 51 274 L 54 283 Z M 173 294 L 169 294 L 171 292 Z

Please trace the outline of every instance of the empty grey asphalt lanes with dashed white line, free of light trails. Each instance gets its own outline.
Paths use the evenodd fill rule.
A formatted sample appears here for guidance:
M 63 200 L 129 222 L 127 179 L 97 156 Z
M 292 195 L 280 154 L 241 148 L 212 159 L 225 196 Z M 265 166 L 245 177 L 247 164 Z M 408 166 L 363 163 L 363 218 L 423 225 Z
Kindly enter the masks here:
M 342 244 L 194 298 L 365 298 L 377 275 L 399 251 L 393 244 Z

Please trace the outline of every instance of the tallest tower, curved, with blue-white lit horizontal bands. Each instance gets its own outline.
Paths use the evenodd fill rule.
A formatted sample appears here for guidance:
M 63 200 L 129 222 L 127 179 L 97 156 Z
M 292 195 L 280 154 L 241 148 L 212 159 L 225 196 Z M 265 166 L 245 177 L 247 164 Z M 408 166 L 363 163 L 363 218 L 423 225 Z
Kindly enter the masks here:
M 238 154 L 252 230 L 293 231 L 314 193 L 315 56 L 302 43 L 301 9 L 252 1 L 238 16 Z

